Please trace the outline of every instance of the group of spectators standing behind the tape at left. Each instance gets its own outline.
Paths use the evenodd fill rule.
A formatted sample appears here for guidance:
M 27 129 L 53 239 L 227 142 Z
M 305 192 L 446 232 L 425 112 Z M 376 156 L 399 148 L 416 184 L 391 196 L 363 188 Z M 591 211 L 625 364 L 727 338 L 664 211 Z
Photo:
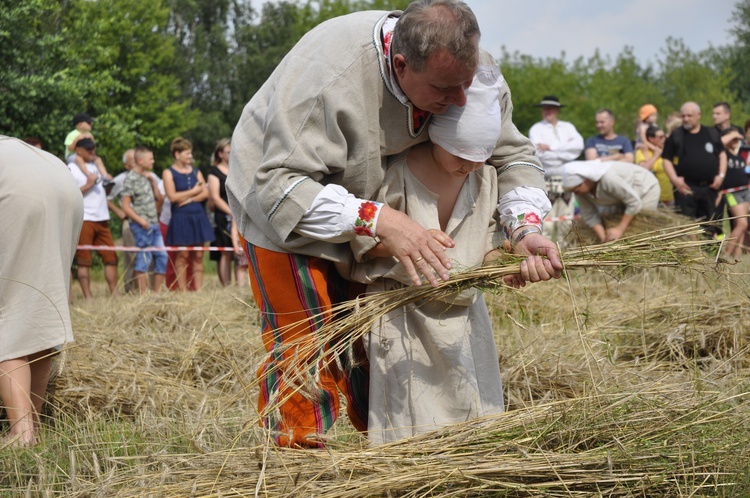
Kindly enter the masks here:
M 238 285 L 246 285 L 247 260 L 225 187 L 229 139 L 217 142 L 207 178 L 193 164 L 191 142 L 182 137 L 172 141 L 172 165 L 161 177 L 153 171 L 153 151 L 145 146 L 126 150 L 122 157 L 124 171 L 113 177 L 96 153 L 94 118 L 79 113 L 72 121 L 74 129 L 65 138 L 62 157 L 83 197 L 83 226 L 73 276 L 86 299 L 93 297 L 93 252 L 99 254 L 112 295 L 118 294 L 121 280 L 118 252 L 123 260 L 122 288 L 126 292 L 159 292 L 165 284 L 170 290 L 201 289 L 208 250 L 210 260 L 217 262 L 221 285 L 232 284 L 232 273 Z M 26 142 L 38 148 L 43 145 L 33 138 Z M 122 221 L 119 246 L 112 236 L 111 216 Z M 213 244 L 210 248 L 209 243 Z

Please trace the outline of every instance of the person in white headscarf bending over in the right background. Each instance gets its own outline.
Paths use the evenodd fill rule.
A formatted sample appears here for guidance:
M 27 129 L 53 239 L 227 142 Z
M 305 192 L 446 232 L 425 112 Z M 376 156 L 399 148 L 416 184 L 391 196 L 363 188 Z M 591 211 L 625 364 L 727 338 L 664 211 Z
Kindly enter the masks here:
M 602 242 L 617 240 L 639 212 L 659 204 L 659 181 L 650 171 L 617 161 L 573 161 L 565 165 L 563 187 L 576 194 L 581 216 Z M 622 219 L 605 229 L 598 207 L 619 207 Z

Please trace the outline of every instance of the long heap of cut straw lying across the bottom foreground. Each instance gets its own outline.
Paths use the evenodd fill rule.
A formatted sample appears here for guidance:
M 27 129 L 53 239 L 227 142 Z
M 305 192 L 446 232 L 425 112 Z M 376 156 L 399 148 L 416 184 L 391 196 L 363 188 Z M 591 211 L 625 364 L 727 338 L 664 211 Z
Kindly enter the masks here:
M 689 385 L 652 386 L 497 414 L 373 448 L 157 453 L 110 481 L 109 491 L 320 498 L 721 494 L 742 487 L 738 453 L 747 451 L 747 408 L 747 393 L 696 397 Z M 733 431 L 731 443 L 712 445 L 712 437 Z M 95 485 L 82 484 L 78 496 L 101 491 Z

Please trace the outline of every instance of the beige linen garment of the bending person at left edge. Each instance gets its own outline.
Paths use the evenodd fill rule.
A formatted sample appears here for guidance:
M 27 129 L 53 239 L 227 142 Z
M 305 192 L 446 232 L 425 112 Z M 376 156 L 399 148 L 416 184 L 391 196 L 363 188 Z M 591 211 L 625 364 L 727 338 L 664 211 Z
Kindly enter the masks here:
M 0 361 L 73 340 L 70 265 L 83 197 L 65 164 L 0 136 Z

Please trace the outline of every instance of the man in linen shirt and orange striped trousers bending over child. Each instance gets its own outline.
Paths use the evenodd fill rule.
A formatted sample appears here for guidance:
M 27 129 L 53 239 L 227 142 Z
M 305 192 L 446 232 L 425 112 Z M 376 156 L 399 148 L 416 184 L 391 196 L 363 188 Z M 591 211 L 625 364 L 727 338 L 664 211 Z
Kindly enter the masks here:
M 405 213 L 371 199 L 386 156 L 427 140 L 432 114 L 466 103 L 480 60 L 479 26 L 459 0 L 417 0 L 405 12 L 358 12 L 307 33 L 245 107 L 232 137 L 230 206 L 245 242 L 250 281 L 261 310 L 267 361 L 259 368 L 259 411 L 278 444 L 320 446 L 347 398 L 352 424 L 367 428 L 368 370 L 361 345 L 352 356 L 319 369 L 317 392 L 296 392 L 284 368 L 305 368 L 291 340 L 312 337 L 316 321 L 280 329 L 330 310 L 363 290 L 336 265 L 353 260 L 354 238 L 379 242 L 411 281 L 449 279 L 444 244 Z M 499 196 L 528 199 L 507 229 L 516 250 L 532 258 L 526 281 L 559 277 L 554 245 L 540 235 L 549 209 L 544 177 L 531 143 L 512 122 L 507 86 L 500 96 L 502 134 L 488 162 Z M 502 207 L 502 206 L 501 206 Z M 352 363 L 351 360 L 354 359 Z M 338 389 L 337 389 L 338 388 Z

